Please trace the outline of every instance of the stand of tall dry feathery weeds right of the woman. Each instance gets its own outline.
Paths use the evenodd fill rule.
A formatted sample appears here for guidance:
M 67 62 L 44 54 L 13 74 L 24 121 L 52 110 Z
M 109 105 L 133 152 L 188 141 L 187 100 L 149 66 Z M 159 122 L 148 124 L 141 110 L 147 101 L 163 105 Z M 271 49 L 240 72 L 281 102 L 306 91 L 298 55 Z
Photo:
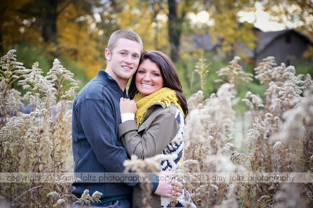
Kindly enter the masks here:
M 264 98 L 247 92 L 243 99 L 254 121 L 244 140 L 244 152 L 234 141 L 233 106 L 236 87 L 251 80 L 239 57 L 218 71 L 227 83 L 217 94 L 189 98 L 185 160 L 180 171 L 195 172 L 308 172 L 307 183 L 189 183 L 187 189 L 200 207 L 313 206 L 313 86 L 310 75 L 295 76 L 293 66 L 276 66 L 274 57 L 255 68 L 255 78 L 267 86 Z M 238 81 L 237 81 L 238 80 Z M 218 174 L 217 174 L 218 175 Z

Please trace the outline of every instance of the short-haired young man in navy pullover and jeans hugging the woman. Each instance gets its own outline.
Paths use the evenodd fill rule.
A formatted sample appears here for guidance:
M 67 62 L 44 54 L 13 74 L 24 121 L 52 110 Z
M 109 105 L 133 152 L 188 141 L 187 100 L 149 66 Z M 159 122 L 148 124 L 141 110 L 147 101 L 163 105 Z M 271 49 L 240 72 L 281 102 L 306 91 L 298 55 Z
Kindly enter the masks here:
M 126 84 L 138 68 L 143 46 L 141 38 L 133 31 L 115 31 L 105 50 L 107 68 L 78 93 L 73 103 L 72 148 L 75 160 L 75 173 L 123 172 L 122 163 L 128 159 L 122 141 L 118 140 L 118 125 L 121 123 L 119 100 L 127 97 Z M 164 175 L 164 172 L 159 175 Z M 88 175 L 88 176 L 87 176 Z M 91 206 L 131 208 L 132 186 L 137 183 L 74 183 L 73 193 L 80 197 L 85 189 L 91 195 L 101 192 L 101 202 Z M 159 182 L 153 184 L 153 192 L 169 197 L 179 188 Z M 174 189 L 174 190 L 173 190 Z

